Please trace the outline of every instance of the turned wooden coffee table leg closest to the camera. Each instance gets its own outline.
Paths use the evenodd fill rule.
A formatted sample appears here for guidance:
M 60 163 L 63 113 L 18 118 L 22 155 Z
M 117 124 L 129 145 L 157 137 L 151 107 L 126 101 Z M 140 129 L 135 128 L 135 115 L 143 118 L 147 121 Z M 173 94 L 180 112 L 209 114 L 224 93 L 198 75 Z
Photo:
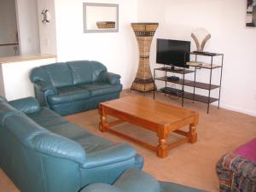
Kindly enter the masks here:
M 168 145 L 166 142 L 166 138 L 168 137 L 169 133 L 166 132 L 166 129 L 161 129 L 158 133 L 159 137 L 159 145 L 157 146 L 156 154 L 160 158 L 165 158 L 168 156 Z

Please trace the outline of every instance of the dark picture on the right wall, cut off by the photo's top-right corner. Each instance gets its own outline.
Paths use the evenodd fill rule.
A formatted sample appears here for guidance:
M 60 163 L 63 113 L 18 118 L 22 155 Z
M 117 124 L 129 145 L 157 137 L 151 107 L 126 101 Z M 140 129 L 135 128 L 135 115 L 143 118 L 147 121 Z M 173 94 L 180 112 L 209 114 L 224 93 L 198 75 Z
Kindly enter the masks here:
M 256 0 L 247 0 L 247 26 L 256 27 Z

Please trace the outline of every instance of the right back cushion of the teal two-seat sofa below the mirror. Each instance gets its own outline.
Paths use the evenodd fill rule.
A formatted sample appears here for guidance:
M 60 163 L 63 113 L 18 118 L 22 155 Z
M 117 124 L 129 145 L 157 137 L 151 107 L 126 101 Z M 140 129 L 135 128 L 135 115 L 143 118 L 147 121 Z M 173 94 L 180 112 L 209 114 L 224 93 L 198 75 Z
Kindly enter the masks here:
M 107 71 L 98 61 L 68 61 L 67 66 L 71 69 L 73 84 L 96 82 L 99 74 Z

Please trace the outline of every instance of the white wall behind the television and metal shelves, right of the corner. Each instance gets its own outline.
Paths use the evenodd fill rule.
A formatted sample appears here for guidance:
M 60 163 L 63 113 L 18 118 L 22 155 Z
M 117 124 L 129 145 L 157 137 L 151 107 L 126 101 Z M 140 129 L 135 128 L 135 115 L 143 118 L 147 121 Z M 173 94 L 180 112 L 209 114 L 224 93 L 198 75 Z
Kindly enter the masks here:
M 160 23 L 155 38 L 191 42 L 191 32 L 205 27 L 212 34 L 206 50 L 224 53 L 221 107 L 256 116 L 256 28 L 245 26 L 246 1 L 138 0 L 138 20 Z M 154 40 L 150 54 L 152 67 L 156 67 L 155 44 Z M 198 75 L 200 80 L 208 82 L 206 71 Z M 218 72 L 214 75 L 216 82 Z M 213 92 L 213 96 L 216 94 Z

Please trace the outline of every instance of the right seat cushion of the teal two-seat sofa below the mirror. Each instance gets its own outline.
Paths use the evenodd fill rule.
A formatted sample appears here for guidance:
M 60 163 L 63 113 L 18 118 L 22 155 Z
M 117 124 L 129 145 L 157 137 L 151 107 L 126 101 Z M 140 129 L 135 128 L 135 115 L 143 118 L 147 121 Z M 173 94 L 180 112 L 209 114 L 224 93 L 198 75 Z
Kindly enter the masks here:
M 122 90 L 121 84 L 108 84 L 106 82 L 93 82 L 87 84 L 78 84 L 77 86 L 89 90 L 91 96 L 104 96 L 110 93 L 119 92 Z

